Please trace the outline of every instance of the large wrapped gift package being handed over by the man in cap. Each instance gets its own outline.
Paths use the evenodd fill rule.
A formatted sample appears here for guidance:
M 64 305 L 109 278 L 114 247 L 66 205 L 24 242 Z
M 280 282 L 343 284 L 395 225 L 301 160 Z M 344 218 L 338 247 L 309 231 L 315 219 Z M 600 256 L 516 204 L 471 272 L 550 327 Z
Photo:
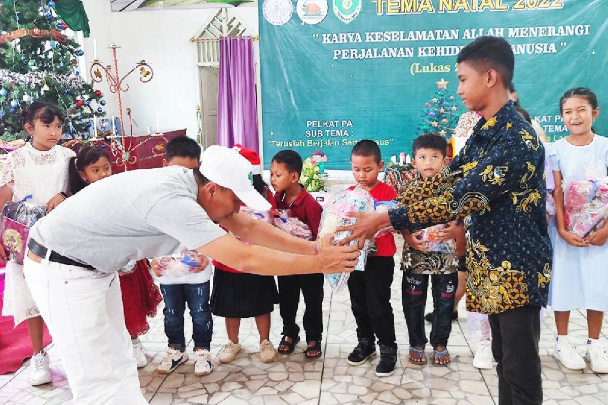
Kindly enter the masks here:
M 353 225 L 357 220 L 349 217 L 348 213 L 371 213 L 374 211 L 374 199 L 370 193 L 362 188 L 354 190 L 342 191 L 335 194 L 321 215 L 321 223 L 319 226 L 319 240 L 322 242 L 325 237 L 334 236 L 334 243 L 339 243 L 340 240 L 350 235 L 350 232 L 336 232 L 340 226 Z M 350 242 L 351 245 L 357 241 Z M 365 262 L 367 261 L 367 251 L 370 247 L 370 241 L 365 241 L 365 247 L 360 251 L 359 261 L 354 267 L 354 270 L 365 270 Z M 344 288 L 348 281 L 350 273 L 325 274 L 325 279 L 331 285 L 331 288 L 339 292 Z

